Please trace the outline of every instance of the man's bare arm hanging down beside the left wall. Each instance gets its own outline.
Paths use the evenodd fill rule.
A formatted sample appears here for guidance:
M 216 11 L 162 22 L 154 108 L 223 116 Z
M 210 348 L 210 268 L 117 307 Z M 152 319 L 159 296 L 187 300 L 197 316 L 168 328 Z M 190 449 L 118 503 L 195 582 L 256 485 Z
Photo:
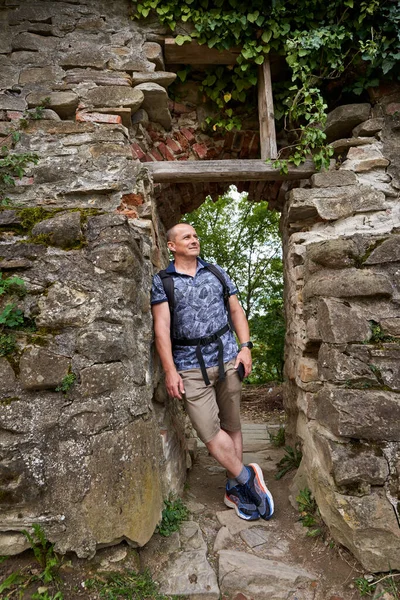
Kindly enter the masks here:
M 173 398 L 182 399 L 185 392 L 183 381 L 176 370 L 174 359 L 172 357 L 171 345 L 171 315 L 169 313 L 168 302 L 160 302 L 151 307 L 154 320 L 154 334 L 156 349 L 165 372 L 165 387 L 168 395 Z

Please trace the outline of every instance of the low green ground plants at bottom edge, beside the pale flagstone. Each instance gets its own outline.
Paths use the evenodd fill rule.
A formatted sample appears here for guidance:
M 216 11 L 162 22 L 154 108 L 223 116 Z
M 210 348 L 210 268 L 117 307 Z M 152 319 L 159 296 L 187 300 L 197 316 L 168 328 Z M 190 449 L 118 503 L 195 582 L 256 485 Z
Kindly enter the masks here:
M 95 590 L 106 600 L 167 600 L 160 594 L 148 571 L 136 573 L 105 573 L 85 581 L 85 589 Z

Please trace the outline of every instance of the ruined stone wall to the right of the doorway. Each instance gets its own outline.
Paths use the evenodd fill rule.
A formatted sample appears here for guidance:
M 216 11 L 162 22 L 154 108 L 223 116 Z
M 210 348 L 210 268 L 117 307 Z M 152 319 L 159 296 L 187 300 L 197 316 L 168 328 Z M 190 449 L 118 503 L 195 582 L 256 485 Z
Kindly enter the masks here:
M 370 571 L 400 568 L 399 98 L 330 115 L 340 166 L 292 190 L 283 215 L 297 489 Z

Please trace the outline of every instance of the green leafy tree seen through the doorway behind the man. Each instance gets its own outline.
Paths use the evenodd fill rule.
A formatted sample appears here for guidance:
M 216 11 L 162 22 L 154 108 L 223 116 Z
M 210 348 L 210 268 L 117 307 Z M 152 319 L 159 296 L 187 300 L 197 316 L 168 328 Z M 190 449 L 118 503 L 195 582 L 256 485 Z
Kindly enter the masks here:
M 247 194 L 230 191 L 216 202 L 207 198 L 183 220 L 196 229 L 204 259 L 221 265 L 238 288 L 255 342 L 250 381 L 282 380 L 285 326 L 278 213 L 267 202 L 251 202 Z

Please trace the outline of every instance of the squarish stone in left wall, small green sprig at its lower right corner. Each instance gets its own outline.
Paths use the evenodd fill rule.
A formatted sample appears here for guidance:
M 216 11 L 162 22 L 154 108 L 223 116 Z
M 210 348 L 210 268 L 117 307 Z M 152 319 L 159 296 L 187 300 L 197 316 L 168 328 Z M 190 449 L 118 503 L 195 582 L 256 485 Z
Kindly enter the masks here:
M 58 387 L 68 375 L 71 361 L 43 348 L 28 348 L 19 362 L 22 386 L 29 391 Z

